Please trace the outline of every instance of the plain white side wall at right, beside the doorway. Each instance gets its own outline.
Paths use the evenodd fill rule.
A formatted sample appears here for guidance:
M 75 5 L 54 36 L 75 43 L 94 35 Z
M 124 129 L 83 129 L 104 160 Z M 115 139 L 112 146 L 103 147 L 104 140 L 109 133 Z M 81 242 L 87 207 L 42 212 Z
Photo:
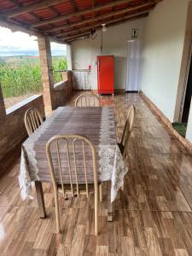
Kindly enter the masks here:
M 164 0 L 146 21 L 141 89 L 173 121 L 189 0 Z

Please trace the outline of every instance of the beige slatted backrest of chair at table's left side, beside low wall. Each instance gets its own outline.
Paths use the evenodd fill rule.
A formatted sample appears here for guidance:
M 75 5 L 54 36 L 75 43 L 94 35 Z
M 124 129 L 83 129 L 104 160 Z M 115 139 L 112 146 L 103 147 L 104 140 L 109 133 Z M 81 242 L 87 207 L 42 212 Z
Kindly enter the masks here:
M 37 108 L 29 108 L 25 113 L 25 125 L 28 136 L 43 123 L 43 118 Z

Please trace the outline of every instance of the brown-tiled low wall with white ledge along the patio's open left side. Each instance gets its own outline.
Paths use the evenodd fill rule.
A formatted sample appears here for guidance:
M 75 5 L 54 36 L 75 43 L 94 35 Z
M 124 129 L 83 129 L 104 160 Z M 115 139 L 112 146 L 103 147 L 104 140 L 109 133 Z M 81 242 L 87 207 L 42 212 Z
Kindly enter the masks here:
M 67 72 L 66 75 L 66 81 L 55 84 L 52 89 L 54 108 L 65 106 L 73 94 L 71 72 Z M 31 107 L 38 108 L 42 116 L 45 116 L 44 98 L 42 95 L 30 96 L 26 100 L 5 109 L 3 93 L 0 86 L 0 162 L 3 162 L 5 157 L 9 158 L 9 154 L 12 154 L 13 149 L 18 146 L 20 153 L 20 144 L 27 138 L 24 115 L 26 110 Z M 3 167 L 1 166 L 0 175 L 2 172 Z

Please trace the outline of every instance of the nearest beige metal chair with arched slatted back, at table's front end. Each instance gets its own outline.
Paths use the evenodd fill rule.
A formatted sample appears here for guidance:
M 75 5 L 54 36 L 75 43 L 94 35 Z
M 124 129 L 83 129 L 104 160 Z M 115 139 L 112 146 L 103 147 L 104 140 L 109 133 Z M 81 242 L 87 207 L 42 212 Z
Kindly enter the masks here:
M 87 151 L 89 149 L 89 154 Z M 96 169 L 96 148 L 89 139 L 80 135 L 56 135 L 49 139 L 46 145 L 46 153 L 49 162 L 49 171 L 52 178 L 55 197 L 56 230 L 61 232 L 58 192 L 64 197 L 95 193 L 95 234 L 98 234 L 98 181 Z M 53 155 L 55 158 L 53 160 Z M 82 156 L 82 157 L 81 157 Z M 89 183 L 87 172 L 89 167 L 93 170 L 94 183 Z M 56 164 L 57 162 L 57 164 Z M 78 165 L 79 163 L 79 165 Z M 79 166 L 82 172 L 79 176 Z M 65 177 L 65 178 L 64 178 Z M 67 181 L 66 180 L 67 177 Z M 84 179 L 82 182 L 82 178 Z M 79 181 L 79 179 L 81 179 Z M 69 183 L 69 184 L 68 184 Z

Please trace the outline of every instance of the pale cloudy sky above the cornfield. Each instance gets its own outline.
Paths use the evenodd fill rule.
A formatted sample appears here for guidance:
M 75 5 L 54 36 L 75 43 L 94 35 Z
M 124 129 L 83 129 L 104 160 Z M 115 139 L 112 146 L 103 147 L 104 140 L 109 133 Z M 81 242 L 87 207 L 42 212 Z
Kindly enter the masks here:
M 51 43 L 52 55 L 66 55 L 66 45 Z M 0 26 L 0 56 L 38 55 L 38 42 L 24 32 L 11 32 Z

